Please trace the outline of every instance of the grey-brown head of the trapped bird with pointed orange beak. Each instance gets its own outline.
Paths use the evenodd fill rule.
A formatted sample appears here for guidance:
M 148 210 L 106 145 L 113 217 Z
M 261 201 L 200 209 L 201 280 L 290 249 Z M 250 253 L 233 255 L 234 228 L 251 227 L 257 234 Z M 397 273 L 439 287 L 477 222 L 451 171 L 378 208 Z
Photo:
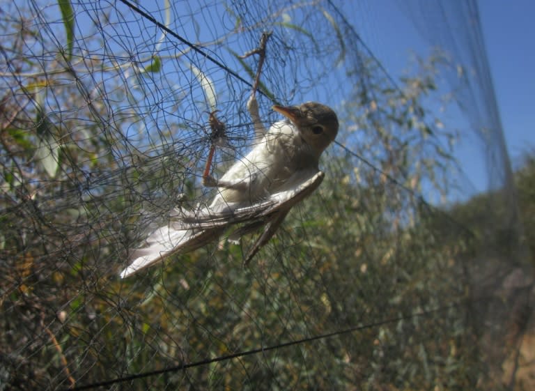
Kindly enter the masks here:
M 330 107 L 318 102 L 306 102 L 299 106 L 275 105 L 273 109 L 292 121 L 302 139 L 318 156 L 336 138 L 338 118 Z

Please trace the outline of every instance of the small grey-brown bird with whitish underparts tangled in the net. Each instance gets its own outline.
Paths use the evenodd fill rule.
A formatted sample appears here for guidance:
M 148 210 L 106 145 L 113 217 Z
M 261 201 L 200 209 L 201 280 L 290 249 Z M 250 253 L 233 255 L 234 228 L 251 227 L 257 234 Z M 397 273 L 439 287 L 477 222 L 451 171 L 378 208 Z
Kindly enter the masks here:
M 269 242 L 289 210 L 323 181 L 320 155 L 339 130 L 333 109 L 318 102 L 274 105 L 272 109 L 284 119 L 266 131 L 258 116 L 256 99 L 249 100 L 247 107 L 254 123 L 256 146 L 221 178 L 203 178 L 205 186 L 217 187 L 212 202 L 197 210 L 176 209 L 171 213 L 169 224 L 150 233 L 146 245 L 131 252 L 130 264 L 121 272 L 121 278 L 171 254 L 203 247 L 235 224 L 241 225 L 228 235 L 232 242 L 263 228 L 245 256 L 247 265 Z

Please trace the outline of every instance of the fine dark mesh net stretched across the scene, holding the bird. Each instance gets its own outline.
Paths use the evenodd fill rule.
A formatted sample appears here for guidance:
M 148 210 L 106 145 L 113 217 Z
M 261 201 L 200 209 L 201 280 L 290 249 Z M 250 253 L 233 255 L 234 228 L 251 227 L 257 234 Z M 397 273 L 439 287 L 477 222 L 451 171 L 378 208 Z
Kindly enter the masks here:
M 476 3 L 389 5 L 425 38 L 402 67 L 374 2 L 2 2 L 0 389 L 525 384 L 532 270 Z M 325 181 L 247 268 L 254 236 L 120 279 L 215 194 L 210 112 L 215 176 L 254 146 L 242 55 L 266 31 L 265 125 L 273 103 L 339 116 Z

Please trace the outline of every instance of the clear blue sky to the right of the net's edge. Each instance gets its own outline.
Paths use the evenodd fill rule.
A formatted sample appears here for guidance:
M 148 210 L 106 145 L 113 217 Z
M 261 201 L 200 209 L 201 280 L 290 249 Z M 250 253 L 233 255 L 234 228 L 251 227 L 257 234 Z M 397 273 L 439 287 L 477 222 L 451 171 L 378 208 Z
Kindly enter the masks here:
M 481 25 L 513 164 L 535 148 L 535 1 L 481 0 Z

